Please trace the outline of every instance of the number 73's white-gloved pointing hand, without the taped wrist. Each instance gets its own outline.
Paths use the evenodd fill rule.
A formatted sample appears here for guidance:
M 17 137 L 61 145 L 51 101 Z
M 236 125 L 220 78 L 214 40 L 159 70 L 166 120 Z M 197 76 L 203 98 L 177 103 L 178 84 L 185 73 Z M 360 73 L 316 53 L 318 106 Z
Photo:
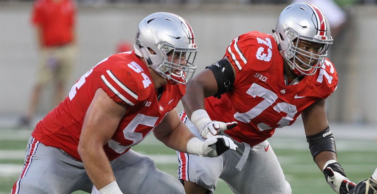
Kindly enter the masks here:
M 224 123 L 224 122 L 221 122 L 221 121 L 211 121 L 207 124 L 204 124 L 202 126 L 200 126 L 199 128 L 199 132 L 200 132 L 200 135 L 204 138 L 204 139 L 208 139 L 210 138 L 211 136 L 214 136 L 214 135 L 218 135 L 219 133 L 227 130 L 227 129 L 231 129 L 235 126 L 237 126 L 237 122 L 236 121 L 233 121 L 233 122 L 230 122 L 230 123 Z

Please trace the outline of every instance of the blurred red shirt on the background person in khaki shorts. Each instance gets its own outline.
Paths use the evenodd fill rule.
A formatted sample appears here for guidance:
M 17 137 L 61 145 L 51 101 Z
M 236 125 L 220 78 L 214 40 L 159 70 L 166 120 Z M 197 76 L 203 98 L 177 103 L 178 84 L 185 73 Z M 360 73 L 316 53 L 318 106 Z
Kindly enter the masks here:
M 40 26 L 44 46 L 60 46 L 74 40 L 76 5 L 72 0 L 37 0 L 32 23 Z

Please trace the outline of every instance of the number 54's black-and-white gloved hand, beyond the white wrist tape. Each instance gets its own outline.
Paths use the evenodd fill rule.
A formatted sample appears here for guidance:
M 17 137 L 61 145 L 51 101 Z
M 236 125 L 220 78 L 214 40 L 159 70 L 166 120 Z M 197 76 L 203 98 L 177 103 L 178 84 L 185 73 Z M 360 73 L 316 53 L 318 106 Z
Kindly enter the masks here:
M 227 150 L 236 150 L 238 146 L 224 135 L 215 135 L 206 139 L 202 145 L 203 156 L 217 157 Z

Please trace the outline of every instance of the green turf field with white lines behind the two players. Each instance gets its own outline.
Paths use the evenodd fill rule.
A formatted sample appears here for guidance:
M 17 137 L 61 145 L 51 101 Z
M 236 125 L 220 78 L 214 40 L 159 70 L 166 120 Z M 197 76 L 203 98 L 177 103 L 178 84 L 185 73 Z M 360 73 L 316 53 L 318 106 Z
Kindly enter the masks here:
M 20 176 L 24 161 L 23 154 L 30 133 L 29 130 L 0 129 L 0 193 L 9 193 L 13 183 Z M 305 138 L 277 136 L 270 138 L 269 141 L 294 194 L 335 193 L 327 185 L 323 174 L 313 162 Z M 160 170 L 176 177 L 178 164 L 175 161 L 178 159 L 175 151 L 164 146 L 153 135 L 148 136 L 132 149 L 144 155 L 150 155 Z M 339 162 L 349 179 L 358 182 L 371 176 L 377 165 L 375 140 L 337 139 L 337 150 Z M 219 180 L 215 194 L 227 193 L 232 192 L 224 181 Z

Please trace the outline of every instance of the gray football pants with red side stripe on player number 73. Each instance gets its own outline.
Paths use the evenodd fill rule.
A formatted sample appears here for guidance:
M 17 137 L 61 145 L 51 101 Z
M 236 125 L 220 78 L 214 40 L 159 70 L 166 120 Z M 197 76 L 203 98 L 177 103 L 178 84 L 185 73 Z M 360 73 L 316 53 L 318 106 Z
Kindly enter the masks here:
M 202 139 L 188 118 L 185 124 Z M 220 135 L 228 136 L 225 133 Z M 291 186 L 285 180 L 279 161 L 267 140 L 253 147 L 233 141 L 238 146 L 236 151 L 228 150 L 215 158 L 177 152 L 178 179 L 194 182 L 211 192 L 220 178 L 236 194 L 291 193 Z

